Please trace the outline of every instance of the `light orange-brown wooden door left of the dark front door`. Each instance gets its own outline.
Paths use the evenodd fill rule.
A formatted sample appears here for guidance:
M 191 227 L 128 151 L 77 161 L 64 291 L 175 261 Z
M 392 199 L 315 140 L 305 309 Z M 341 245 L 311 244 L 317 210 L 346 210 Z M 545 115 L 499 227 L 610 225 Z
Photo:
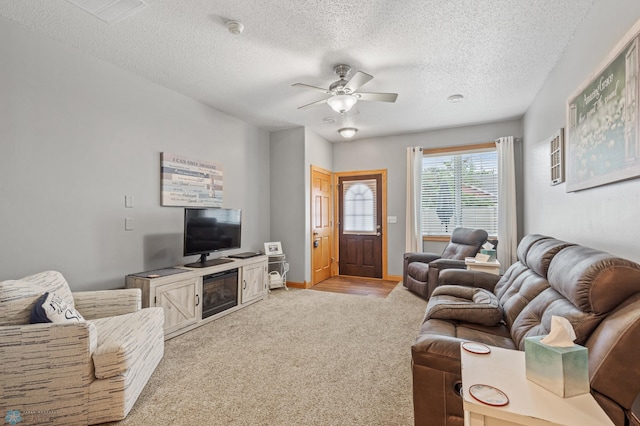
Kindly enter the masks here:
M 311 168 L 311 260 L 312 284 L 331 277 L 331 172 Z

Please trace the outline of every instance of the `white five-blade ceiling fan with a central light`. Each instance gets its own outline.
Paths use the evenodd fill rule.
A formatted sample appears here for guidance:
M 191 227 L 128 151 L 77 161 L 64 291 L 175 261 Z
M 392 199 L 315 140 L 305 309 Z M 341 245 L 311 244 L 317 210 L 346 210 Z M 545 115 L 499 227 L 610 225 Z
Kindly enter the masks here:
M 398 98 L 397 93 L 358 92 L 358 89 L 368 83 L 373 76 L 362 71 L 358 71 L 347 81 L 344 78 L 351 72 L 351 67 L 349 65 L 336 65 L 333 67 L 333 72 L 340 77 L 340 80 L 331 83 L 329 89 L 323 89 L 322 87 L 311 86 L 304 83 L 295 83 L 293 85 L 294 87 L 319 90 L 327 95 L 331 95 L 328 98 L 320 99 L 319 101 L 311 102 L 307 105 L 302 105 L 298 107 L 298 109 L 306 109 L 326 102 L 335 112 L 345 113 L 358 101 L 395 102 Z

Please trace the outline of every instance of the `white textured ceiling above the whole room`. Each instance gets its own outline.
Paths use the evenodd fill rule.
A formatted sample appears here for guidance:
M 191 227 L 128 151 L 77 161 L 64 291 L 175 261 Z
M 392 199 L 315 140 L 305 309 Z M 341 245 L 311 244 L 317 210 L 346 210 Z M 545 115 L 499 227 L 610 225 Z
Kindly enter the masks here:
M 596 1 L 146 0 L 109 25 L 65 0 L 1 0 L 0 16 L 257 126 L 339 141 L 345 126 L 366 138 L 522 116 Z M 298 110 L 323 94 L 291 85 L 328 87 L 338 63 L 397 102 Z

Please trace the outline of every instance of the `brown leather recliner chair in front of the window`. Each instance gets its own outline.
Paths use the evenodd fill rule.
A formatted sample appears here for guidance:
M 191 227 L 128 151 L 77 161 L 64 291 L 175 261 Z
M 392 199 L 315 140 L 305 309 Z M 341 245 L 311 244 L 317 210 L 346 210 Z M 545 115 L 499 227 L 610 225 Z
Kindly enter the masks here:
M 464 269 L 464 258 L 475 256 L 487 237 L 487 231 L 482 229 L 456 228 L 451 234 L 451 242 L 442 254 L 405 253 L 403 285 L 428 299 L 438 285 L 439 271 L 449 268 Z

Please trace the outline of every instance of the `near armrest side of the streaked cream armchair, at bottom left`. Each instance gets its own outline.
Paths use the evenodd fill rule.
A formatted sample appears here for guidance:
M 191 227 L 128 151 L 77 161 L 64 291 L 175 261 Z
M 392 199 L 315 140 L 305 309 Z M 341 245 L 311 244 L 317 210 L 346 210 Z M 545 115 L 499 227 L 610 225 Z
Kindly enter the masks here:
M 91 322 L 0 327 L 2 400 L 21 412 L 46 413 L 30 424 L 86 424 L 91 352 L 97 331 Z

